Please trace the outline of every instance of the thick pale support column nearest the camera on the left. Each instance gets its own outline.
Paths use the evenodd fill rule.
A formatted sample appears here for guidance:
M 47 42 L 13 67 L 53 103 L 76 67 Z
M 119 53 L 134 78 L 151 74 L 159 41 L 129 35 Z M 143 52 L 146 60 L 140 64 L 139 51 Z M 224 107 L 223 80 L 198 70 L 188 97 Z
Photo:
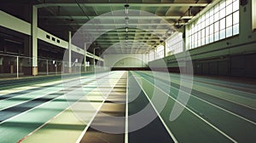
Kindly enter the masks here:
M 32 6 L 32 75 L 38 75 L 38 8 Z

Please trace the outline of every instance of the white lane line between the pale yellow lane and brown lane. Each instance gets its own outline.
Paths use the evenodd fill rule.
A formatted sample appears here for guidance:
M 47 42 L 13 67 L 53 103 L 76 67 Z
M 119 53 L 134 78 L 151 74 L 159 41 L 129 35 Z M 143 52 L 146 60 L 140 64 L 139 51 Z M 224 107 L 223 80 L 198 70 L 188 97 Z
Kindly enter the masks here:
M 117 73 L 118 73 L 118 72 L 117 72 Z M 124 72 L 123 72 L 123 74 L 124 74 Z M 114 83 L 113 83 L 114 85 L 113 85 L 113 86 L 110 86 L 111 91 L 113 90 L 113 88 L 115 87 L 115 85 L 119 82 L 119 79 L 122 77 L 123 74 L 121 74 L 121 76 L 119 76 L 118 78 L 113 78 L 113 80 L 112 80 L 111 82 L 114 82 Z M 116 76 L 117 76 L 117 74 L 114 75 L 114 77 L 116 77 Z M 110 80 L 110 79 L 111 79 L 111 77 L 109 78 L 109 80 Z M 108 81 L 107 81 L 107 83 L 108 83 Z M 102 84 L 103 84 L 103 83 L 102 83 Z M 108 95 L 111 93 L 111 91 L 108 93 Z M 90 127 L 90 124 L 92 123 L 92 121 L 93 121 L 94 118 L 96 117 L 97 113 L 101 110 L 101 108 L 102 108 L 102 106 L 103 106 L 105 100 L 108 99 L 108 96 L 107 96 L 107 97 L 104 97 L 103 99 L 104 99 L 104 100 L 102 101 L 101 105 L 97 108 L 95 114 L 94 114 L 93 117 L 90 119 L 90 122 L 86 125 L 86 127 L 85 127 L 84 130 L 83 130 L 83 132 L 79 135 L 79 139 L 76 141 L 76 143 L 80 143 L 80 141 L 83 139 L 83 137 L 84 137 L 86 131 L 87 131 L 87 130 L 89 129 L 89 127 Z

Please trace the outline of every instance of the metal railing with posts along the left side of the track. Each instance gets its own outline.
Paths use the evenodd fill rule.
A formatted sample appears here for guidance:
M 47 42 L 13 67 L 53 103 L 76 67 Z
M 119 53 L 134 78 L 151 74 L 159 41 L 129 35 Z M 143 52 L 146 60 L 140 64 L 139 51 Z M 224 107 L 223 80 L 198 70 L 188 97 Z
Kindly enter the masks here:
M 71 70 L 68 70 L 71 68 Z M 67 61 L 40 59 L 38 58 L 38 75 L 54 75 L 62 73 L 85 73 L 104 72 L 108 67 L 86 65 L 84 63 L 73 62 L 72 67 L 68 67 Z M 11 77 L 32 77 L 32 58 L 19 55 L 0 54 L 0 78 Z

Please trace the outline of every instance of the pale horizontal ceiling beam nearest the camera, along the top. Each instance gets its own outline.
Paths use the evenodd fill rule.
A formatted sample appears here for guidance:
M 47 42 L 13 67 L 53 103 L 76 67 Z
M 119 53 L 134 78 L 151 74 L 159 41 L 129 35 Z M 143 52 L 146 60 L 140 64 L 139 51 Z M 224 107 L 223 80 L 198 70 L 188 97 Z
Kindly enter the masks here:
M 79 3 L 84 7 L 124 7 L 125 3 Z M 129 3 L 132 7 L 206 7 L 208 3 Z M 77 3 L 41 3 L 35 5 L 38 8 L 46 7 L 77 7 Z

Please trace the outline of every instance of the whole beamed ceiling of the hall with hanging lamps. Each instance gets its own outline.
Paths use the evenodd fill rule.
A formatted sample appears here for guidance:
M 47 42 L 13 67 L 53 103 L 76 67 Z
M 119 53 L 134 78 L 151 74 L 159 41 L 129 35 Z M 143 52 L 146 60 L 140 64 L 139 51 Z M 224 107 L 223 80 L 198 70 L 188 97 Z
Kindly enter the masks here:
M 38 26 L 96 53 L 144 54 L 212 0 L 37 0 Z M 125 5 L 128 13 L 125 11 Z M 127 27 L 127 28 L 126 28 Z M 79 32 L 78 32 L 79 31 Z

